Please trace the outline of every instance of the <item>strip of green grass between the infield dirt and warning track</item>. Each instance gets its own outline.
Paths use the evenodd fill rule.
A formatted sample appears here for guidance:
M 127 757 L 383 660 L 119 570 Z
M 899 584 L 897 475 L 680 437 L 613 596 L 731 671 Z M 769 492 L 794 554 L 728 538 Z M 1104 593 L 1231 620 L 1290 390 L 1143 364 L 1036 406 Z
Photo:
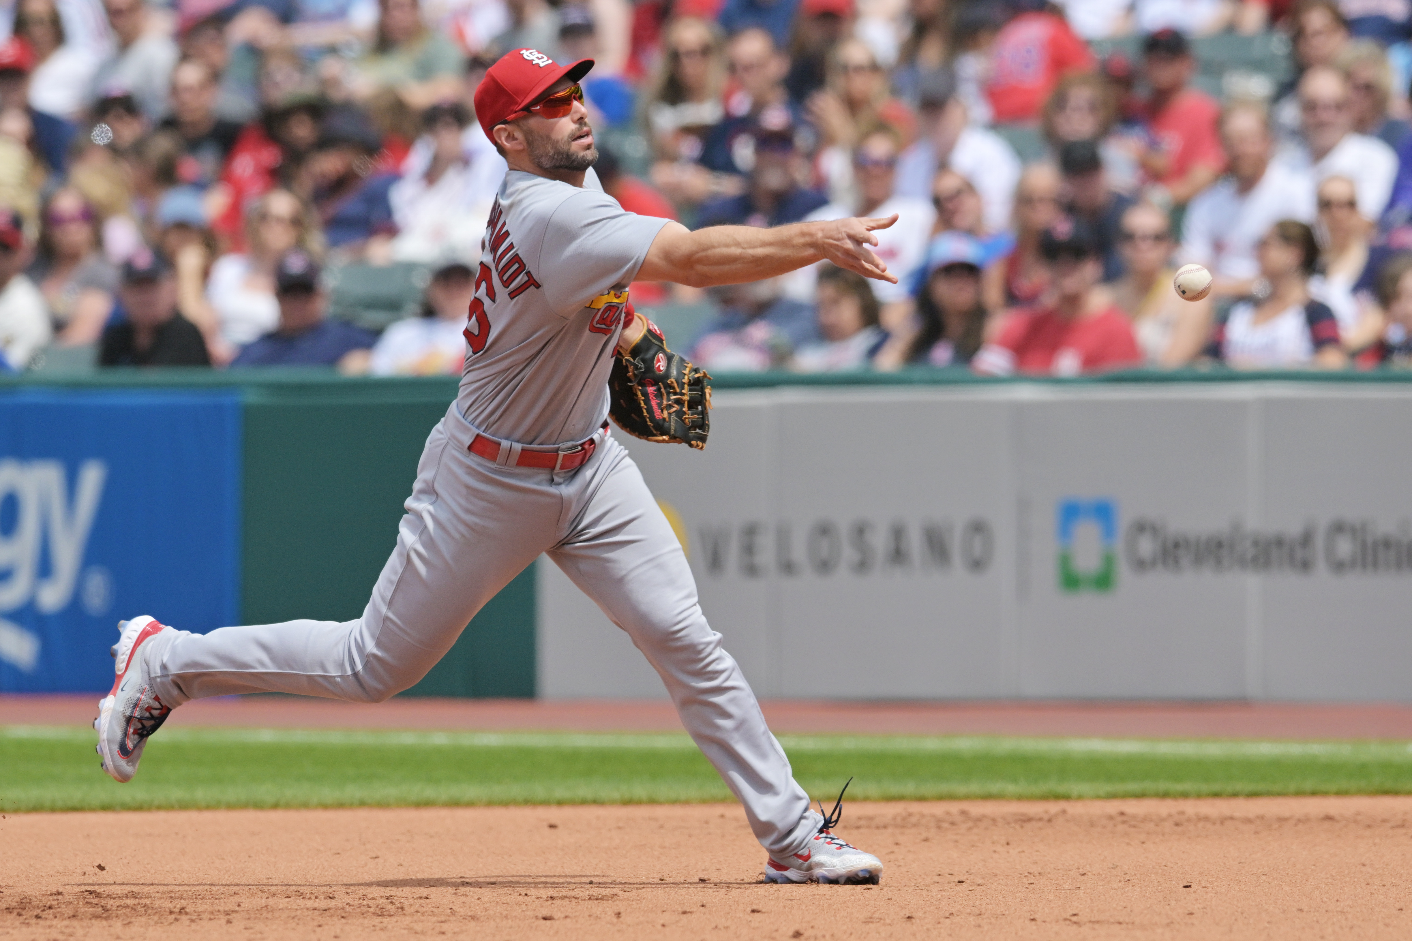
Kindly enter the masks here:
M 88 729 L 0 727 L 0 810 L 634 804 L 730 800 L 685 735 L 174 728 L 117 784 Z M 1412 793 L 1405 742 L 782 735 L 830 799 Z

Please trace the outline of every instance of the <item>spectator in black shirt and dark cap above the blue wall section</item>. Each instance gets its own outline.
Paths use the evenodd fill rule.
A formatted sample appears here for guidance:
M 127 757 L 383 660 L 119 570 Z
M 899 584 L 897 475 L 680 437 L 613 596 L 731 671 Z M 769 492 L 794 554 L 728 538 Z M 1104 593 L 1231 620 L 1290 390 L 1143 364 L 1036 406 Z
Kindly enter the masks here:
M 99 365 L 210 365 L 201 329 L 176 309 L 176 281 L 161 254 L 143 248 L 123 264 L 124 320 L 103 330 Z

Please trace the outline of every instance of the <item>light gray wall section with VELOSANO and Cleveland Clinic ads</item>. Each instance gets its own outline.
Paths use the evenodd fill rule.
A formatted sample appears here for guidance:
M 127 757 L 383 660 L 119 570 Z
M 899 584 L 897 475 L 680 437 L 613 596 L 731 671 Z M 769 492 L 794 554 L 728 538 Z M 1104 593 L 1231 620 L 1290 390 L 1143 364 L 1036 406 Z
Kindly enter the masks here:
M 628 447 L 761 696 L 1412 700 L 1408 385 L 722 391 Z M 539 694 L 661 696 L 539 569 Z

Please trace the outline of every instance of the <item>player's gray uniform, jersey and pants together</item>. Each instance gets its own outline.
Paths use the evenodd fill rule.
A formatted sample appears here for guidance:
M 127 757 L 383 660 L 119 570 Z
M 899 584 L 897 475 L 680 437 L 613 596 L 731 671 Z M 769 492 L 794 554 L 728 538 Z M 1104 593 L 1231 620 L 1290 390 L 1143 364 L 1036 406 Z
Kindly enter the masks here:
M 706 622 L 686 554 L 637 466 L 599 430 L 626 285 L 665 220 L 626 213 L 596 176 L 587 182 L 505 176 L 477 267 L 460 394 L 426 439 L 363 615 L 164 631 L 143 656 L 172 707 L 256 691 L 381 701 L 425 676 L 544 553 L 647 655 L 755 837 L 786 859 L 822 818 Z M 596 447 L 572 471 L 500 466 L 470 451 L 477 429 L 521 444 L 594 435 Z

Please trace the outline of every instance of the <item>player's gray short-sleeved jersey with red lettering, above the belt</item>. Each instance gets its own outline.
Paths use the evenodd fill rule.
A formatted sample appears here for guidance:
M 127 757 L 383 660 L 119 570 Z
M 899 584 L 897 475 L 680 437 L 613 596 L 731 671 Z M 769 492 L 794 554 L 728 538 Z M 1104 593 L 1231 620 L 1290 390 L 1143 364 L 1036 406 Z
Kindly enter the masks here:
M 507 442 L 579 442 L 607 418 L 627 285 L 666 224 L 583 182 L 513 169 L 490 212 L 456 402 Z

